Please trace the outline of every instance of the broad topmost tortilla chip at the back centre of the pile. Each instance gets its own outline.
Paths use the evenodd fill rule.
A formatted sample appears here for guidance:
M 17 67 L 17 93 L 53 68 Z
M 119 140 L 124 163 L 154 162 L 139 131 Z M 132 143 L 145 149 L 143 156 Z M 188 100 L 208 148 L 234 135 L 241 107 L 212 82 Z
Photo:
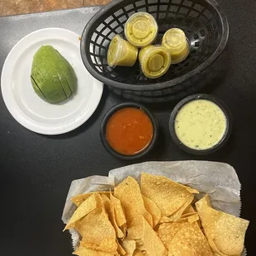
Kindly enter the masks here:
M 196 189 L 173 182 L 169 178 L 141 173 L 141 193 L 159 207 L 164 216 L 173 215 Z

